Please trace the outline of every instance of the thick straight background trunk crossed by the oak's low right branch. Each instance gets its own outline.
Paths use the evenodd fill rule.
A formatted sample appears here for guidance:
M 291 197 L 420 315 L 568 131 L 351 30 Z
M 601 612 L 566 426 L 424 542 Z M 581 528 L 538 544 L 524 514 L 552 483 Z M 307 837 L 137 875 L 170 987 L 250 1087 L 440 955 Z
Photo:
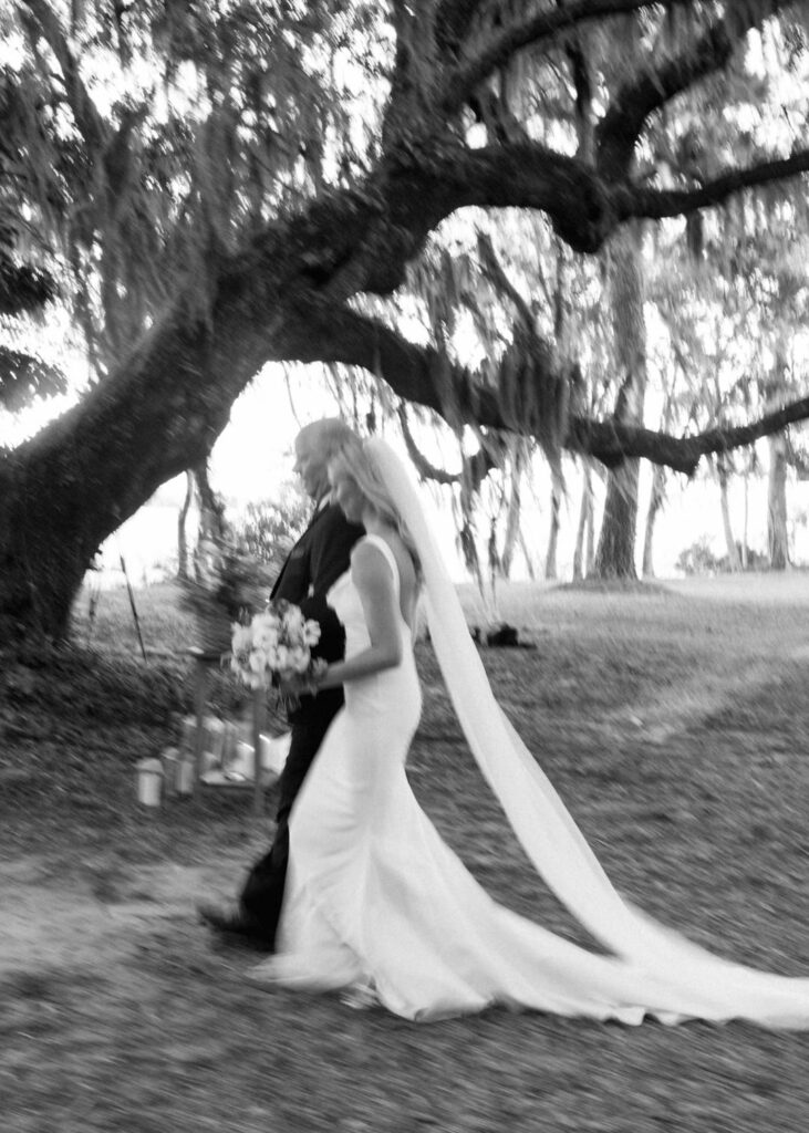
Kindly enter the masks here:
M 646 394 L 646 324 L 641 269 L 641 229 L 630 224 L 611 242 L 608 271 L 615 355 L 622 375 L 615 418 L 641 425 Z M 635 539 L 638 523 L 638 461 L 624 460 L 607 477 L 604 519 L 595 574 L 637 578 Z

